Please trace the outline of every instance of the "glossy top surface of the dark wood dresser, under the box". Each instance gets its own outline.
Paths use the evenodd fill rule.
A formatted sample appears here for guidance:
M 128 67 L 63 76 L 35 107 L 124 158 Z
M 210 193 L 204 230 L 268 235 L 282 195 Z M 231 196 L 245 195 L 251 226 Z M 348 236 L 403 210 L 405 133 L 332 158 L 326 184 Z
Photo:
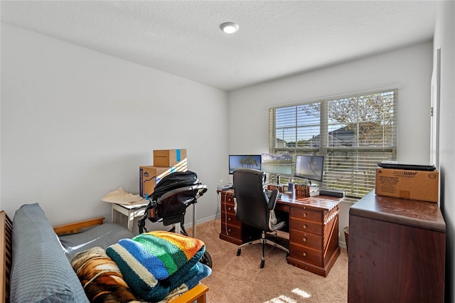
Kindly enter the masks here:
M 437 203 L 378 196 L 374 190 L 351 206 L 349 215 L 446 232 Z

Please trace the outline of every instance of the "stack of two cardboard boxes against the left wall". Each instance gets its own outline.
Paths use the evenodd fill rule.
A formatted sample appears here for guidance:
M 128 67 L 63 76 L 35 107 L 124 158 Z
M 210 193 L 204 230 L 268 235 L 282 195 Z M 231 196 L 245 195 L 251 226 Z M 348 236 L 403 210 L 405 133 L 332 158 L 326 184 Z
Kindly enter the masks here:
M 139 166 L 139 195 L 150 196 L 156 184 L 174 171 L 187 171 L 186 149 L 154 150 L 154 165 Z

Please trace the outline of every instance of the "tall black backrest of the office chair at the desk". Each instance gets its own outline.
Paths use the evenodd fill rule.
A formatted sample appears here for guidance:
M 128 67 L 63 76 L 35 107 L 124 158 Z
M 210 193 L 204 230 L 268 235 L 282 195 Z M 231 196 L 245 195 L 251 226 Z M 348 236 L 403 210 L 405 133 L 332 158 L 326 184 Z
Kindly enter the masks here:
M 268 231 L 269 198 L 265 193 L 264 171 L 235 169 L 233 181 L 237 219 L 254 228 Z

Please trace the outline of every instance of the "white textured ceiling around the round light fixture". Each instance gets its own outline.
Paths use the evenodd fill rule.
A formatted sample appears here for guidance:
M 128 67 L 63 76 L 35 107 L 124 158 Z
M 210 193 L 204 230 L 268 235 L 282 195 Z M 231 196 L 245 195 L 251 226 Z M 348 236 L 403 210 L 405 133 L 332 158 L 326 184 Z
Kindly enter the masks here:
M 4 1 L 1 22 L 223 90 L 423 41 L 437 1 Z M 234 35 L 220 31 L 233 21 Z

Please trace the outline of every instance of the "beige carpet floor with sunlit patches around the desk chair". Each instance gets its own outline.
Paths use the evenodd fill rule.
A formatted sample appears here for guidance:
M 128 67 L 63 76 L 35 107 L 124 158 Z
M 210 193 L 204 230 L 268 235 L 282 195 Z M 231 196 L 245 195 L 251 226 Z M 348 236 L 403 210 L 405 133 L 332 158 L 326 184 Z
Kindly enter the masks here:
M 203 240 L 213 260 L 213 272 L 203 280 L 210 290 L 209 303 L 342 303 L 348 298 L 348 255 L 341 249 L 327 277 L 287 264 L 286 252 L 267 245 L 265 266 L 259 268 L 261 245 L 242 249 L 219 238 L 220 219 L 196 226 L 196 238 Z M 191 228 L 188 234 L 192 235 Z

